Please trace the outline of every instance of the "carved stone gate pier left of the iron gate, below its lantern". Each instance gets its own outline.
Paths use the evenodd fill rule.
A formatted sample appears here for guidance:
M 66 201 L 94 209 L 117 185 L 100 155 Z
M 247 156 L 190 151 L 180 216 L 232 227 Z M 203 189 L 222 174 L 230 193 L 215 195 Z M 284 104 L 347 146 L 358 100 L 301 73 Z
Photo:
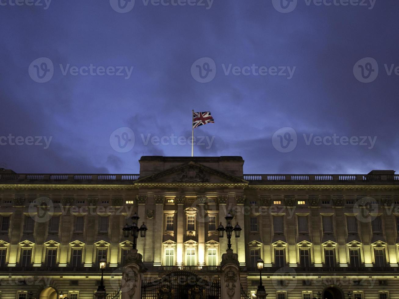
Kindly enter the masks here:
M 120 287 L 121 299 L 141 299 L 142 273 L 145 271 L 142 258 L 136 249 L 127 254 Z

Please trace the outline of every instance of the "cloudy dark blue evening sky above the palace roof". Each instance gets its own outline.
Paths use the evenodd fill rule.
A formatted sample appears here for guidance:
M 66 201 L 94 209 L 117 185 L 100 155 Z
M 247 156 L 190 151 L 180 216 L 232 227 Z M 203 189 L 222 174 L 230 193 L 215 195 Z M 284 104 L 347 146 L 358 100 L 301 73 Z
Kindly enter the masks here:
M 245 173 L 399 169 L 398 1 L 20 1 L 0 0 L 0 162 L 14 171 L 190 155 L 192 109 L 215 119 L 194 154 L 242 155 Z

